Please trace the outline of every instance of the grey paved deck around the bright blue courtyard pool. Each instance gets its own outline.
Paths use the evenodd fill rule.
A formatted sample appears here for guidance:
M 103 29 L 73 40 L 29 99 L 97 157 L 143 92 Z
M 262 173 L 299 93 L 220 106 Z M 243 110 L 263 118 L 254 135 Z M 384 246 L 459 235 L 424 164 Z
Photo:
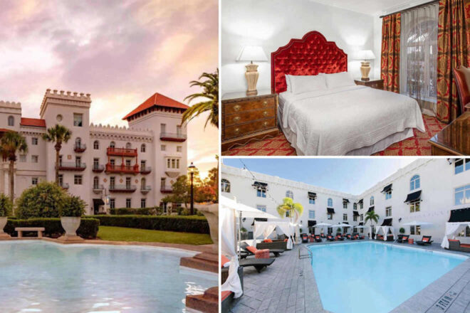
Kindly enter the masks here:
M 368 240 L 345 240 L 305 245 L 335 245 L 338 243 L 364 242 Z M 390 245 L 406 245 L 387 243 Z M 440 243 L 413 248 L 455 253 L 470 257 L 470 253 L 449 251 Z M 310 258 L 305 248 L 296 245 L 284 252 L 261 273 L 244 267 L 244 295 L 236 301 L 231 313 L 331 313 L 323 309 L 318 287 L 315 283 Z M 391 313 L 470 313 L 470 258 L 454 267 L 432 284 L 413 295 Z

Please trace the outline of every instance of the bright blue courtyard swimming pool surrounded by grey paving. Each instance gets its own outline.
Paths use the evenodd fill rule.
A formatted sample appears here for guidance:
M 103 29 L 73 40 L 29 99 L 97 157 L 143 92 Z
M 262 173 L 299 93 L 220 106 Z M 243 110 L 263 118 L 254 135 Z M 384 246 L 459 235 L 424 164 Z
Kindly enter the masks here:
M 390 312 L 466 259 L 374 242 L 309 249 L 323 308 L 334 313 Z

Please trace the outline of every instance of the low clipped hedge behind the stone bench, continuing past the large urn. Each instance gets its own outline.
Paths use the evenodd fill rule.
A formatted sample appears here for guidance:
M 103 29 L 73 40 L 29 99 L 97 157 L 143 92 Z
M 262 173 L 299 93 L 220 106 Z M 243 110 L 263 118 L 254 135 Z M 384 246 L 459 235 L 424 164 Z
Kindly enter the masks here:
M 77 235 L 85 239 L 95 239 L 99 226 L 100 221 L 97 218 L 82 218 Z M 43 227 L 46 228 L 43 234 L 52 238 L 58 238 L 65 233 L 60 218 L 29 218 L 27 220 L 9 218 L 4 231 L 16 237 L 18 235 L 15 231 L 16 227 Z

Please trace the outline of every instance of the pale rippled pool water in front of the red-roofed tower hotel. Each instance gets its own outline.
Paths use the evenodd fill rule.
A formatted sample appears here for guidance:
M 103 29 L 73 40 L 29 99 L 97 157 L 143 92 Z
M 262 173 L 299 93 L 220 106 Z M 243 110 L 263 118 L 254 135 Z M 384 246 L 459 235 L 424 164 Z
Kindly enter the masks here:
M 180 250 L 0 242 L 1 312 L 184 312 L 216 276 L 179 272 Z

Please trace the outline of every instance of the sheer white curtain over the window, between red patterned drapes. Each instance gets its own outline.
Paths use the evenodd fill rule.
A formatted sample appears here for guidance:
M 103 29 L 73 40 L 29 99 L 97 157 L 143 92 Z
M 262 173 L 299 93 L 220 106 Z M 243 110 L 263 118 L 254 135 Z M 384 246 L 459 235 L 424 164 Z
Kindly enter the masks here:
M 417 100 L 425 115 L 436 115 L 437 18 L 439 4 L 402 13 L 400 93 Z

